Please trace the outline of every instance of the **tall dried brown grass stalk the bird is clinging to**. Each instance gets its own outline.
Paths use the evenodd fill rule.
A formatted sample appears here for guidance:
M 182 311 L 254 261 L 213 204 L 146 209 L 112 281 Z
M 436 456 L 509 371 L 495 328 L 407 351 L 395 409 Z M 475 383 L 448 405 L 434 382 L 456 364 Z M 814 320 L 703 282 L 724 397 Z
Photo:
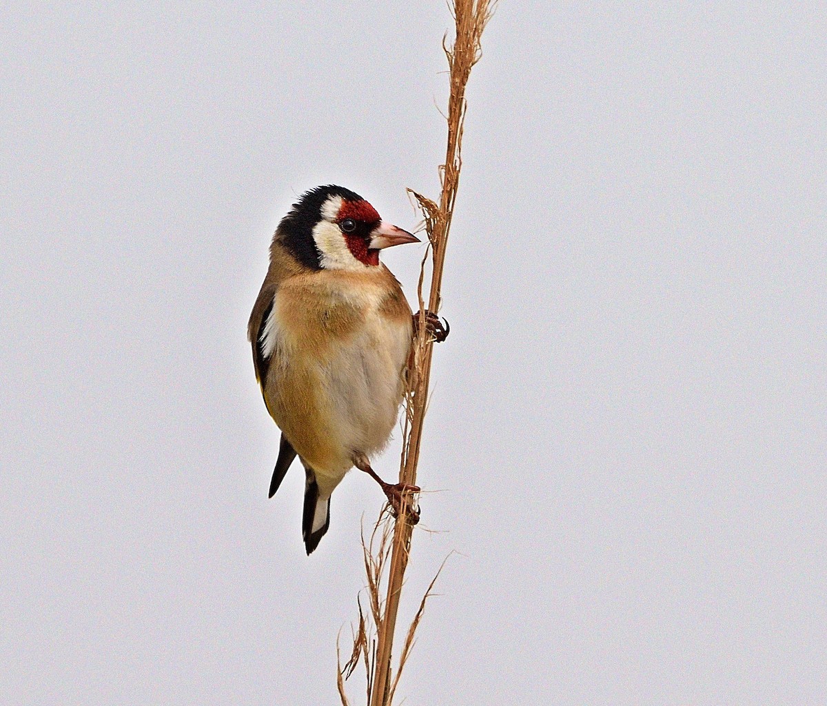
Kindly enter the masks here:
M 439 168 L 442 192 L 437 203 L 414 190 L 409 190 L 423 213 L 425 230 L 428 233 L 428 252 L 431 255 L 431 281 L 426 307 L 424 299 L 425 271 L 428 261 L 428 252 L 426 252 L 417 288 L 420 312 L 419 326 L 418 334 L 414 339 L 414 358 L 405 394 L 402 459 L 399 467 L 399 483 L 407 485 L 416 484 L 419 448 L 428 403 L 428 384 L 431 377 L 433 338 L 428 334 L 424 311 L 427 308 L 428 311 L 436 314 L 442 303 L 440 297 L 442 268 L 445 263 L 448 232 L 451 229 L 462 169 L 461 144 L 467 107 L 466 84 L 471 74 L 471 68 L 480 60 L 482 32 L 494 12 L 495 5 L 496 0 L 452 0 L 449 4 L 455 21 L 456 38 L 453 46 L 447 45 L 447 37 L 442 40 L 442 48 L 448 60 L 451 76 L 451 94 L 448 98 L 447 111 L 447 149 L 445 163 Z M 414 502 L 416 502 L 416 499 L 410 495 L 403 498 L 399 518 L 393 525 L 393 540 L 390 543 L 390 574 L 384 602 L 380 600 L 380 587 L 389 548 L 387 542 L 383 540 L 380 542 L 378 554 L 373 554 L 371 550 L 376 531 L 380 526 L 386 528 L 388 525 L 386 521 L 383 521 L 382 516 L 377 522 L 374 536 L 371 536 L 369 544 L 365 545 L 364 537 L 362 540 L 362 545 L 366 550 L 365 568 L 368 577 L 370 611 L 376 629 L 376 640 L 369 640 L 366 632 L 363 632 L 364 621 L 360 605 L 360 627 L 354 638 L 353 655 L 351 655 L 351 660 L 348 661 L 345 669 L 352 672 L 354 660 L 358 661 L 359 655 L 363 656 L 368 671 L 368 706 L 390 706 L 396 686 L 399 684 L 399 675 L 409 657 L 411 648 L 414 646 L 414 633 L 422 618 L 425 603 L 432 594 L 434 582 L 439 575 L 437 572 L 437 576 L 428 586 L 428 590 L 425 592 L 418 612 L 414 617 L 414 622 L 409 627 L 399 659 L 399 666 L 396 675 L 392 679 L 391 651 L 396 628 L 396 616 L 399 610 L 399 597 L 404 583 L 405 569 L 408 566 L 413 531 L 408 511 Z M 383 533 L 385 531 L 386 529 L 383 529 Z M 383 537 L 386 537 L 386 535 L 383 534 Z M 339 691 L 342 695 L 342 704 L 347 706 L 341 668 L 339 672 Z M 347 678 L 347 675 L 345 678 Z

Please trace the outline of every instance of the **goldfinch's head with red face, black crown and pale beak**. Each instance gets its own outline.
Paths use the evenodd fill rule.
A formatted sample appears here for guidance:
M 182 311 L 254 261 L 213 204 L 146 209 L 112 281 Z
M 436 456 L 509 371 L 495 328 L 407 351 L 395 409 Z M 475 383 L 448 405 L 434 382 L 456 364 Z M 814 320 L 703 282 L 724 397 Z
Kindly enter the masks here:
M 317 186 L 302 195 L 281 219 L 276 238 L 313 270 L 376 267 L 383 248 L 419 242 L 385 223 L 360 195 L 334 185 Z

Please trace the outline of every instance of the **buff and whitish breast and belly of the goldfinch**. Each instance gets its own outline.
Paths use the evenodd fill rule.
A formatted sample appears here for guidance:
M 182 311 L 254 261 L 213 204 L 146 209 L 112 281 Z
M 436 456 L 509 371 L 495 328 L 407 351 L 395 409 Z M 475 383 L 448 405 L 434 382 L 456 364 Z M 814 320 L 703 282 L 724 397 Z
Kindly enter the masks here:
M 276 295 L 265 322 L 270 414 L 323 492 L 342 480 L 355 454 L 370 459 L 385 448 L 404 394 L 409 310 L 387 314 L 387 281 L 356 284 L 340 286 L 331 275 L 299 281 Z M 337 312 L 338 324 L 317 328 L 318 315 L 305 318 L 304 309 Z

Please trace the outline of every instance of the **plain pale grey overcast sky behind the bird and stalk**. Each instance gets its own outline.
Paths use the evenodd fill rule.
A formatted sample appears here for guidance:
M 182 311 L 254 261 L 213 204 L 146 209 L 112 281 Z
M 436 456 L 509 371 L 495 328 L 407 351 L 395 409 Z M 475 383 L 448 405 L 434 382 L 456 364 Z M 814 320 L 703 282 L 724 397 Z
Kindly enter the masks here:
M 406 704 L 827 703 L 827 11 L 769 4 L 485 32 Z M 3 704 L 338 703 L 382 496 L 351 473 L 304 555 L 246 320 L 304 190 L 437 194 L 450 24 L 3 4 Z M 409 296 L 422 253 L 383 256 Z

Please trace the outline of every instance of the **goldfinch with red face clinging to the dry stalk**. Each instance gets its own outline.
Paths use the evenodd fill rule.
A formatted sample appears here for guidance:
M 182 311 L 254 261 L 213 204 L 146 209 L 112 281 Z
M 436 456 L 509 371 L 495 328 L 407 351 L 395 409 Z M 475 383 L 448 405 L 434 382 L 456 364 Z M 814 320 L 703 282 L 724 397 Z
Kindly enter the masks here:
M 298 456 L 308 555 L 330 526 L 332 492 L 354 466 L 380 483 L 397 511 L 402 492 L 418 491 L 385 483 L 370 467 L 399 418 L 418 321 L 379 253 L 418 242 L 360 195 L 326 185 L 299 197 L 270 244 L 247 338 L 265 406 L 281 430 L 270 497 Z M 426 314 L 442 340 L 447 330 Z

